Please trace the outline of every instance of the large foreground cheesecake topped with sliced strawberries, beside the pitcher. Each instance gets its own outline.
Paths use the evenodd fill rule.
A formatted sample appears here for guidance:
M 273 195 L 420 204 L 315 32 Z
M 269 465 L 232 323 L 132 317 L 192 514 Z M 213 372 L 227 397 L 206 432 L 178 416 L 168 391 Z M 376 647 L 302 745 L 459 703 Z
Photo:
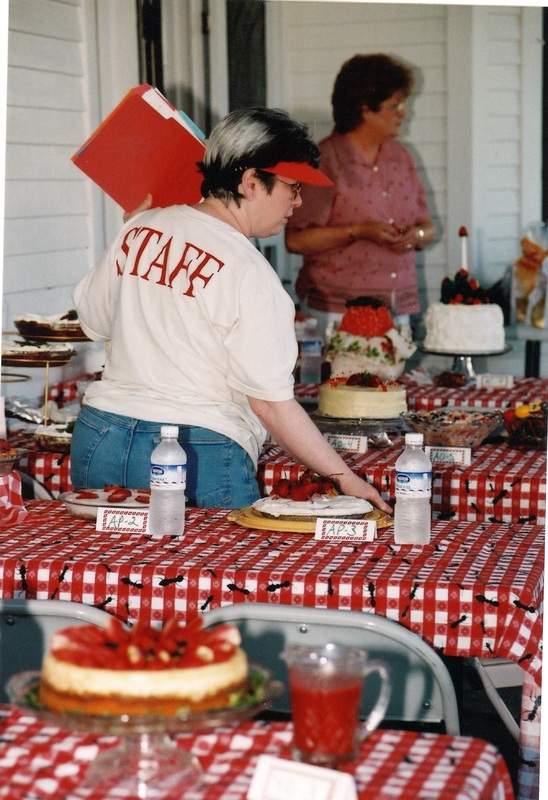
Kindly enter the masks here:
M 57 712 L 172 716 L 235 705 L 249 688 L 247 656 L 234 625 L 205 629 L 175 618 L 162 629 L 74 625 L 53 634 L 40 702 Z

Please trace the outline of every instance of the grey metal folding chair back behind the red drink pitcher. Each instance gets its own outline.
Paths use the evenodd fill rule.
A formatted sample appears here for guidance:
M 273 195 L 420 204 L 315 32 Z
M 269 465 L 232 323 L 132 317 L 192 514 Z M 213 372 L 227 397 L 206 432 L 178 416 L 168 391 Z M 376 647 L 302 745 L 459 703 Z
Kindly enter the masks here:
M 457 698 L 447 667 L 418 634 L 394 620 L 358 611 L 270 603 L 222 606 L 206 612 L 203 619 L 206 627 L 221 622 L 237 625 L 249 660 L 267 667 L 282 681 L 286 691 L 272 707 L 275 712 L 290 711 L 287 668 L 280 658 L 285 646 L 334 642 L 362 647 L 371 658 L 389 665 L 392 697 L 387 721 L 420 723 L 421 727 L 443 723 L 447 733 L 456 736 L 460 732 Z M 363 715 L 369 712 L 378 692 L 376 675 L 367 682 Z

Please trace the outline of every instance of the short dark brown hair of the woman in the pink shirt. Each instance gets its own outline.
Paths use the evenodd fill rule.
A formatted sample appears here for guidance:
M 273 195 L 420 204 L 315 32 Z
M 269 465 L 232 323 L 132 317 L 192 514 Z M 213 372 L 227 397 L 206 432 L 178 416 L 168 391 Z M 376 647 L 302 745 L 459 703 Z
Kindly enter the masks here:
M 356 55 L 342 65 L 335 78 L 331 103 L 338 133 L 355 130 L 362 120 L 363 107 L 378 111 L 381 103 L 395 92 L 407 97 L 413 89 L 409 67 L 384 53 Z

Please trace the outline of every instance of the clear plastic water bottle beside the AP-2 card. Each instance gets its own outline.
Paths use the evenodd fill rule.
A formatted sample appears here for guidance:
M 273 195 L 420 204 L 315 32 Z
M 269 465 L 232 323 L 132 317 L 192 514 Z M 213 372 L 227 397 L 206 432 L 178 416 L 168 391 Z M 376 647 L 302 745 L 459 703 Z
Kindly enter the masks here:
M 185 529 L 186 453 L 177 441 L 177 425 L 162 425 L 161 441 L 150 457 L 148 532 L 182 534 Z

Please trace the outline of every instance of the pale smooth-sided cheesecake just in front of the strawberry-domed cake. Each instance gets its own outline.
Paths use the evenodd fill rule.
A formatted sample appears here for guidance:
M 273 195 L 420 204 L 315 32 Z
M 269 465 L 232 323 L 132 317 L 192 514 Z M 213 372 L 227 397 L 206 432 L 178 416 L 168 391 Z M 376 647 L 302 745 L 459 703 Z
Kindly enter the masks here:
M 405 388 L 361 372 L 320 386 L 318 413 L 340 419 L 395 419 L 407 411 Z

